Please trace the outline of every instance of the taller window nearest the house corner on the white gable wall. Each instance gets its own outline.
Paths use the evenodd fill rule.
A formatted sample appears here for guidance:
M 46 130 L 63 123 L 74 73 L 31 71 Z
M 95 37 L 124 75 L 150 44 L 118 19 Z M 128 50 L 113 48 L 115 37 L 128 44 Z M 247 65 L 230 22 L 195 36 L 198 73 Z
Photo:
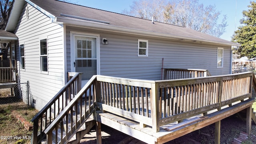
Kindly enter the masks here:
M 40 40 L 40 68 L 41 72 L 48 72 L 47 39 Z

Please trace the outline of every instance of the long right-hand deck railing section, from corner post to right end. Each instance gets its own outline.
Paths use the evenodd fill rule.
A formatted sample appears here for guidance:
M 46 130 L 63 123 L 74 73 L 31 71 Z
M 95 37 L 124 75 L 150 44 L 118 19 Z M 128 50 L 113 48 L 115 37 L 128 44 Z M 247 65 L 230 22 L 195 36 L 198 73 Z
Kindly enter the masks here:
M 156 81 L 160 126 L 251 97 L 252 72 L 181 80 Z

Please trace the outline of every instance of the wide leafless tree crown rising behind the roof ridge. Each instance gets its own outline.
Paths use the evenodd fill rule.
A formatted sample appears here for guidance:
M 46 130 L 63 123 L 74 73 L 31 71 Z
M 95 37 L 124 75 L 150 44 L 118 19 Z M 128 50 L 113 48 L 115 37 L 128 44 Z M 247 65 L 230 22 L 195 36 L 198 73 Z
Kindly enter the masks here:
M 151 19 L 176 26 L 183 26 L 220 37 L 227 26 L 226 15 L 218 24 L 219 11 L 215 6 L 199 4 L 198 0 L 139 0 L 134 1 L 130 11 L 123 14 Z

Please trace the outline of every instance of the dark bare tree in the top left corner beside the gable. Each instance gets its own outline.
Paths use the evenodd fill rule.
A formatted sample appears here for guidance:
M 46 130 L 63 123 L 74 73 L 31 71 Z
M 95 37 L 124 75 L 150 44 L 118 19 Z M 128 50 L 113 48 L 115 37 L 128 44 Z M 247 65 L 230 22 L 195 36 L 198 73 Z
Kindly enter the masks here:
M 4 30 L 9 19 L 14 0 L 0 0 L 1 15 L 0 15 L 0 29 Z

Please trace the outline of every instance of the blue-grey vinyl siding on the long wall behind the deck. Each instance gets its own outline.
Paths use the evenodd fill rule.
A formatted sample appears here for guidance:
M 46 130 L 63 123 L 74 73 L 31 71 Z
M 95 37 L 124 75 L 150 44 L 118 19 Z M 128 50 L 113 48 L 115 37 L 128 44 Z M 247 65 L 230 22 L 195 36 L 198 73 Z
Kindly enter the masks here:
M 66 26 L 67 60 L 70 60 L 70 31 L 100 34 L 100 74 L 123 78 L 160 80 L 163 68 L 207 69 L 214 75 L 230 74 L 230 51 L 224 48 L 224 67 L 217 69 L 218 46 L 122 34 Z M 138 39 L 148 40 L 148 57 L 138 57 Z M 68 71 L 70 71 L 70 61 Z

